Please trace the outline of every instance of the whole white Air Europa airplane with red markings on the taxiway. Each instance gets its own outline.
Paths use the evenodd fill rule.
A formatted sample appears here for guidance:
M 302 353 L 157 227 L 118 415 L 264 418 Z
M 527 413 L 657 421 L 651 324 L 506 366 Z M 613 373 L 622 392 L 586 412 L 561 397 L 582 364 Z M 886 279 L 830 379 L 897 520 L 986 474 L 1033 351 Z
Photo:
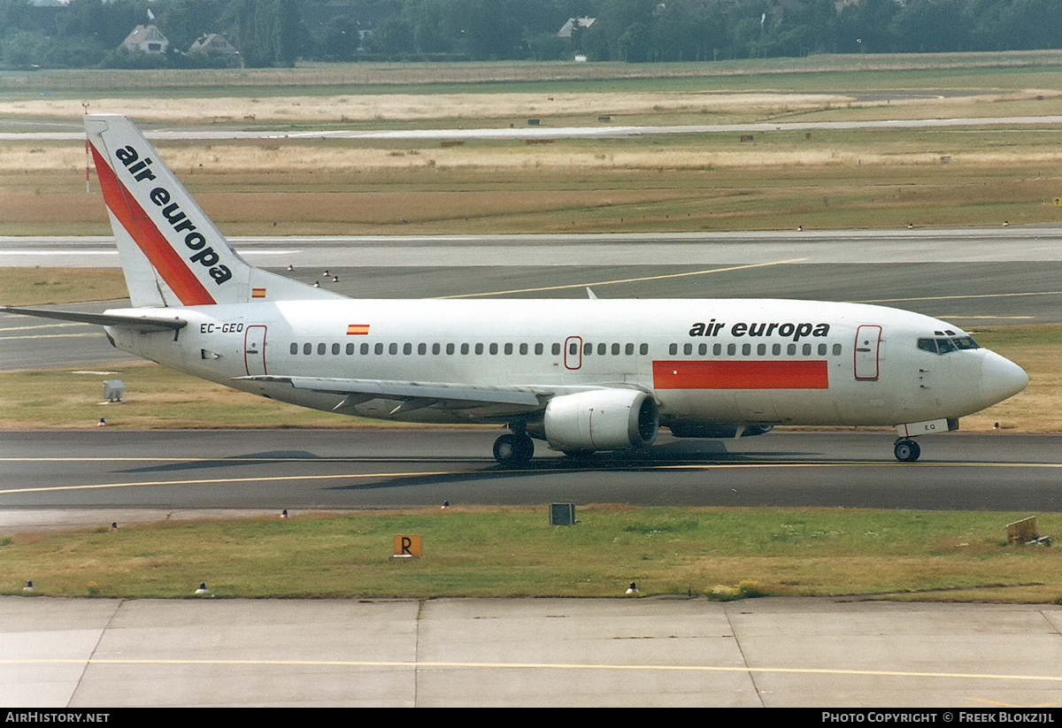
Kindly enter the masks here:
M 495 460 L 571 456 L 774 426 L 921 435 L 1021 392 L 1026 372 L 960 328 L 859 304 L 774 299 L 360 300 L 254 267 L 125 117 L 85 129 L 131 308 L 0 307 L 99 324 L 119 349 L 346 415 L 498 423 Z

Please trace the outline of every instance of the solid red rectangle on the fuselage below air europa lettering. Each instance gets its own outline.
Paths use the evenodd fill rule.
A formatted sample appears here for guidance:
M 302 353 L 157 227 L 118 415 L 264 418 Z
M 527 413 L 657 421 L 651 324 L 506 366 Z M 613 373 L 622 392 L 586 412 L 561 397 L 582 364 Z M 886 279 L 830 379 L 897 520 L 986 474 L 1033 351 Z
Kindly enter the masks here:
M 825 361 L 653 362 L 656 389 L 828 389 Z

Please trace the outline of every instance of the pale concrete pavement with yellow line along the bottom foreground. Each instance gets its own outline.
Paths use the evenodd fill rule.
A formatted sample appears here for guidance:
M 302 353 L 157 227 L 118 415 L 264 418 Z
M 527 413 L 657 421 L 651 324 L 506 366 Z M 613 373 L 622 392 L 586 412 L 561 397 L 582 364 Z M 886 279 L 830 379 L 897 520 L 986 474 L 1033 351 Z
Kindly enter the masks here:
M 0 597 L 0 705 L 1062 704 L 1062 607 Z

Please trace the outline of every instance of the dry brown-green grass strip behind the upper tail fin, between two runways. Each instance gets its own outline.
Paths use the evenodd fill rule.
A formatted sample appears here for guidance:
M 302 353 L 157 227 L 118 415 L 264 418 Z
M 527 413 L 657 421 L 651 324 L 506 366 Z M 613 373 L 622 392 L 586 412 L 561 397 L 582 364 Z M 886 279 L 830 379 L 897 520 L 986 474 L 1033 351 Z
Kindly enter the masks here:
M 994 226 L 1062 221 L 1059 134 L 159 142 L 159 153 L 234 236 Z M 0 152 L 0 235 L 109 235 L 79 154 Z

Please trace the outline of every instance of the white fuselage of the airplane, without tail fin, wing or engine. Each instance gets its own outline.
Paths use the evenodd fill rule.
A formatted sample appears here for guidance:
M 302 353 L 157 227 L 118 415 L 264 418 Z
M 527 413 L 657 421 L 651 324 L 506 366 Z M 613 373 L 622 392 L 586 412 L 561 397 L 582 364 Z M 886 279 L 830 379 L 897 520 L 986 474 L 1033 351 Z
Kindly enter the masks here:
M 167 313 L 188 325 L 176 333 L 108 333 L 119 348 L 174 369 L 326 411 L 343 397 L 239 378 L 630 387 L 655 398 L 666 426 L 895 426 L 957 418 L 1028 381 L 988 349 L 920 348 L 920 340 L 966 337 L 949 324 L 856 304 L 350 299 Z M 372 399 L 344 412 L 413 421 L 504 419 L 431 406 L 395 412 L 399 403 Z

